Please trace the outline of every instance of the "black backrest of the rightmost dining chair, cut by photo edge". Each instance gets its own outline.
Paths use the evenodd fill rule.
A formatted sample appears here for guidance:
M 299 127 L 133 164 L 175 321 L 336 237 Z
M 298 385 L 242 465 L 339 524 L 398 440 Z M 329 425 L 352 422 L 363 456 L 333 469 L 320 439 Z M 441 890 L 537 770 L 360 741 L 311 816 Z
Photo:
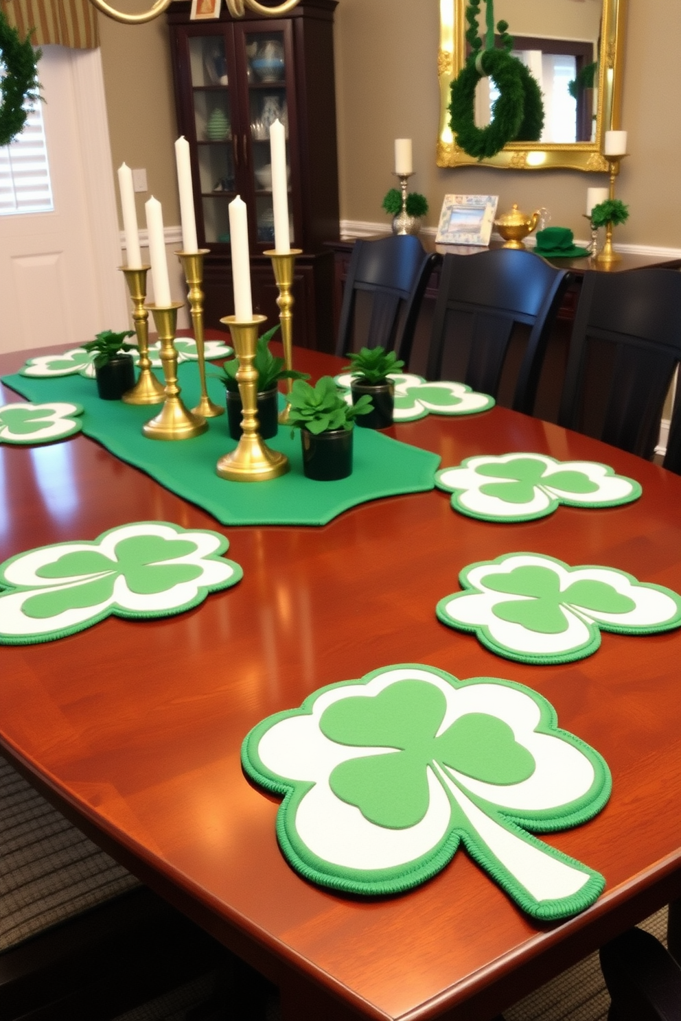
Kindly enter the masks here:
M 680 359 L 681 274 L 586 273 L 558 424 L 650 458 Z

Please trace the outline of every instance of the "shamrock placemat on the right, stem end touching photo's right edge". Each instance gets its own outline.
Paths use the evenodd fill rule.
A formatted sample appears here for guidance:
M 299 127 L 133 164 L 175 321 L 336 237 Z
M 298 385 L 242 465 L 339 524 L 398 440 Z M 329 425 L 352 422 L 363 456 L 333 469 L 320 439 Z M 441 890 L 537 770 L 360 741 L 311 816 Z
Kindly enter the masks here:
M 570 663 L 600 645 L 600 632 L 642 635 L 681 626 L 681 598 L 616 568 L 576 567 L 539 553 L 505 553 L 464 568 L 463 592 L 437 616 L 520 663 Z

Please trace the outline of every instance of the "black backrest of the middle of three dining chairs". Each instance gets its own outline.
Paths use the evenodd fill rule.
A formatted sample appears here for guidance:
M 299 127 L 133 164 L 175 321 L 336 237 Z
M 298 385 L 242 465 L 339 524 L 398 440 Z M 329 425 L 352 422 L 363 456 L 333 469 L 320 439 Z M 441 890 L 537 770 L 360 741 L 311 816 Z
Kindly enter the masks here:
M 531 412 L 548 335 L 569 283 L 532 252 L 445 255 L 428 358 L 430 380 L 452 378 L 496 397 L 517 324 L 531 327 L 514 407 Z M 461 359 L 464 364 L 461 366 Z

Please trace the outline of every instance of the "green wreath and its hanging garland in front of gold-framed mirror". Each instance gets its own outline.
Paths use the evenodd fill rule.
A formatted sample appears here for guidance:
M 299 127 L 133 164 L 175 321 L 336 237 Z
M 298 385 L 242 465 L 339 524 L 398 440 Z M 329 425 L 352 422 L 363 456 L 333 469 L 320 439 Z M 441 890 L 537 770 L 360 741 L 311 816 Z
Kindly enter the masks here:
M 480 0 L 471 0 L 466 10 L 469 22 L 466 38 L 472 52 L 451 83 L 448 109 L 456 144 L 470 156 L 484 159 L 500 152 L 506 142 L 536 142 L 544 126 L 544 105 L 535 79 L 525 64 L 510 55 L 514 41 L 506 31 L 507 21 L 499 21 L 496 26 L 501 34 L 502 49 L 494 49 L 492 0 L 486 0 L 487 32 L 485 49 L 480 52 L 479 13 Z M 474 116 L 475 92 L 478 82 L 485 76 L 494 80 L 499 97 L 492 106 L 490 124 L 478 128 Z

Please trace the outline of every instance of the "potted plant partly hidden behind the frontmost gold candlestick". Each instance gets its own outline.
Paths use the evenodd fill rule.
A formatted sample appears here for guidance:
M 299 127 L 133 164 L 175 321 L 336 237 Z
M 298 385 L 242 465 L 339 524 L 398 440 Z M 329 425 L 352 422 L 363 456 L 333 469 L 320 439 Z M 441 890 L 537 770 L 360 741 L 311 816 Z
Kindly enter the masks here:
M 277 384 L 280 380 L 307 380 L 307 373 L 296 372 L 295 369 L 284 369 L 284 359 L 277 358 L 272 353 L 267 344 L 279 330 L 279 325 L 267 330 L 261 337 L 258 337 L 255 347 L 255 357 L 253 368 L 257 372 L 257 418 L 259 423 L 259 433 L 263 440 L 270 440 L 277 435 L 279 405 Z M 232 358 L 223 366 L 223 373 L 218 377 L 227 391 L 227 419 L 230 429 L 230 436 L 233 440 L 241 438 L 241 394 L 237 383 L 237 372 L 239 371 L 239 359 Z

